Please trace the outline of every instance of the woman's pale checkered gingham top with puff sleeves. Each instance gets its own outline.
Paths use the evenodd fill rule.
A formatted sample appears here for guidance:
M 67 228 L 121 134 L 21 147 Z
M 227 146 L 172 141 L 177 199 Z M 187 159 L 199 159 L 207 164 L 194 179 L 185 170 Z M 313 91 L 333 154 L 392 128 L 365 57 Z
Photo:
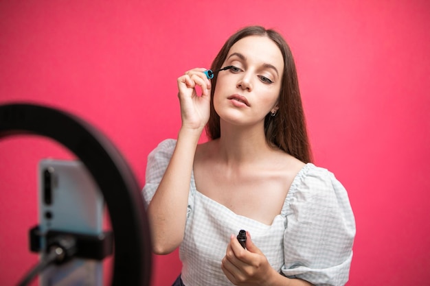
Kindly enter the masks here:
M 148 156 L 146 206 L 163 177 L 176 140 L 161 142 Z M 352 259 L 355 221 L 348 193 L 327 169 L 306 164 L 271 225 L 237 215 L 196 190 L 191 178 L 184 239 L 179 247 L 186 286 L 233 285 L 220 263 L 231 234 L 248 230 L 271 266 L 314 285 L 344 285 Z M 166 266 L 167 267 L 167 266 Z

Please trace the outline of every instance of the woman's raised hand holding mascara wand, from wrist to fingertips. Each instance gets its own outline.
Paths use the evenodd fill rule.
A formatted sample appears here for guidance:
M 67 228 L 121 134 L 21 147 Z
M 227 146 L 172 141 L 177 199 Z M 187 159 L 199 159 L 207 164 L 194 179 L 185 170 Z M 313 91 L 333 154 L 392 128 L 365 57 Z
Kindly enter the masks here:
M 205 70 L 191 69 L 178 78 L 183 128 L 201 131 L 209 120 L 211 82 L 203 73 Z M 197 94 L 196 86 L 201 88 L 201 95 Z

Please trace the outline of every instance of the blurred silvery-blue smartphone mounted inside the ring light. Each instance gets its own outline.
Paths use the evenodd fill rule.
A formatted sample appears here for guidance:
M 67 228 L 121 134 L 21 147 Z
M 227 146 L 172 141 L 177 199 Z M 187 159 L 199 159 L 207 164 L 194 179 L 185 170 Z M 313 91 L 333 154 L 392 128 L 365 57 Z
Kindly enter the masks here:
M 43 159 L 38 164 L 38 223 L 48 230 L 100 235 L 104 200 L 87 168 L 79 160 Z M 41 259 L 46 241 L 41 239 Z M 71 259 L 50 265 L 39 275 L 40 286 L 102 286 L 102 261 Z

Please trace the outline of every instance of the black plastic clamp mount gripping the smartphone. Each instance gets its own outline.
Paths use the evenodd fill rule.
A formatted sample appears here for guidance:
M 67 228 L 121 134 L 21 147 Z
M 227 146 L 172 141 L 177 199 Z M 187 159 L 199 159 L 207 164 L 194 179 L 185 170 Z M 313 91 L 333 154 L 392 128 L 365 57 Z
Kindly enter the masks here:
M 49 230 L 42 233 L 38 226 L 30 229 L 30 250 L 32 252 L 43 251 L 41 243 L 44 238 L 49 244 L 56 237 L 67 235 L 76 241 L 76 253 L 73 257 L 82 259 L 103 260 L 113 253 L 113 233 L 106 231 L 100 235 L 83 235 L 81 233 L 64 232 L 60 230 Z M 45 252 L 49 249 L 45 247 Z

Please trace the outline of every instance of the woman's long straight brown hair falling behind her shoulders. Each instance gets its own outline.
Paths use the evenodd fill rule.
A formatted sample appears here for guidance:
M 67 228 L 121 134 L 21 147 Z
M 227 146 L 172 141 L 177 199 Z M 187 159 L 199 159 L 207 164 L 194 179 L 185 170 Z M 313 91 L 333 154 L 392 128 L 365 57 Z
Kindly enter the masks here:
M 284 58 L 284 73 L 278 102 L 279 109 L 274 117 L 269 112 L 264 119 L 264 134 L 266 134 L 267 142 L 269 145 L 279 147 L 304 163 L 312 162 L 313 158 L 310 151 L 293 55 L 288 44 L 278 32 L 260 26 L 249 26 L 240 29 L 230 36 L 220 49 L 214 62 L 212 62 L 212 71 L 219 71 L 231 46 L 247 36 L 266 36 L 270 38 L 278 45 Z M 220 117 L 214 109 L 214 91 L 217 78 L 218 73 L 215 72 L 212 79 L 210 119 L 206 125 L 206 134 L 210 139 L 220 137 Z

